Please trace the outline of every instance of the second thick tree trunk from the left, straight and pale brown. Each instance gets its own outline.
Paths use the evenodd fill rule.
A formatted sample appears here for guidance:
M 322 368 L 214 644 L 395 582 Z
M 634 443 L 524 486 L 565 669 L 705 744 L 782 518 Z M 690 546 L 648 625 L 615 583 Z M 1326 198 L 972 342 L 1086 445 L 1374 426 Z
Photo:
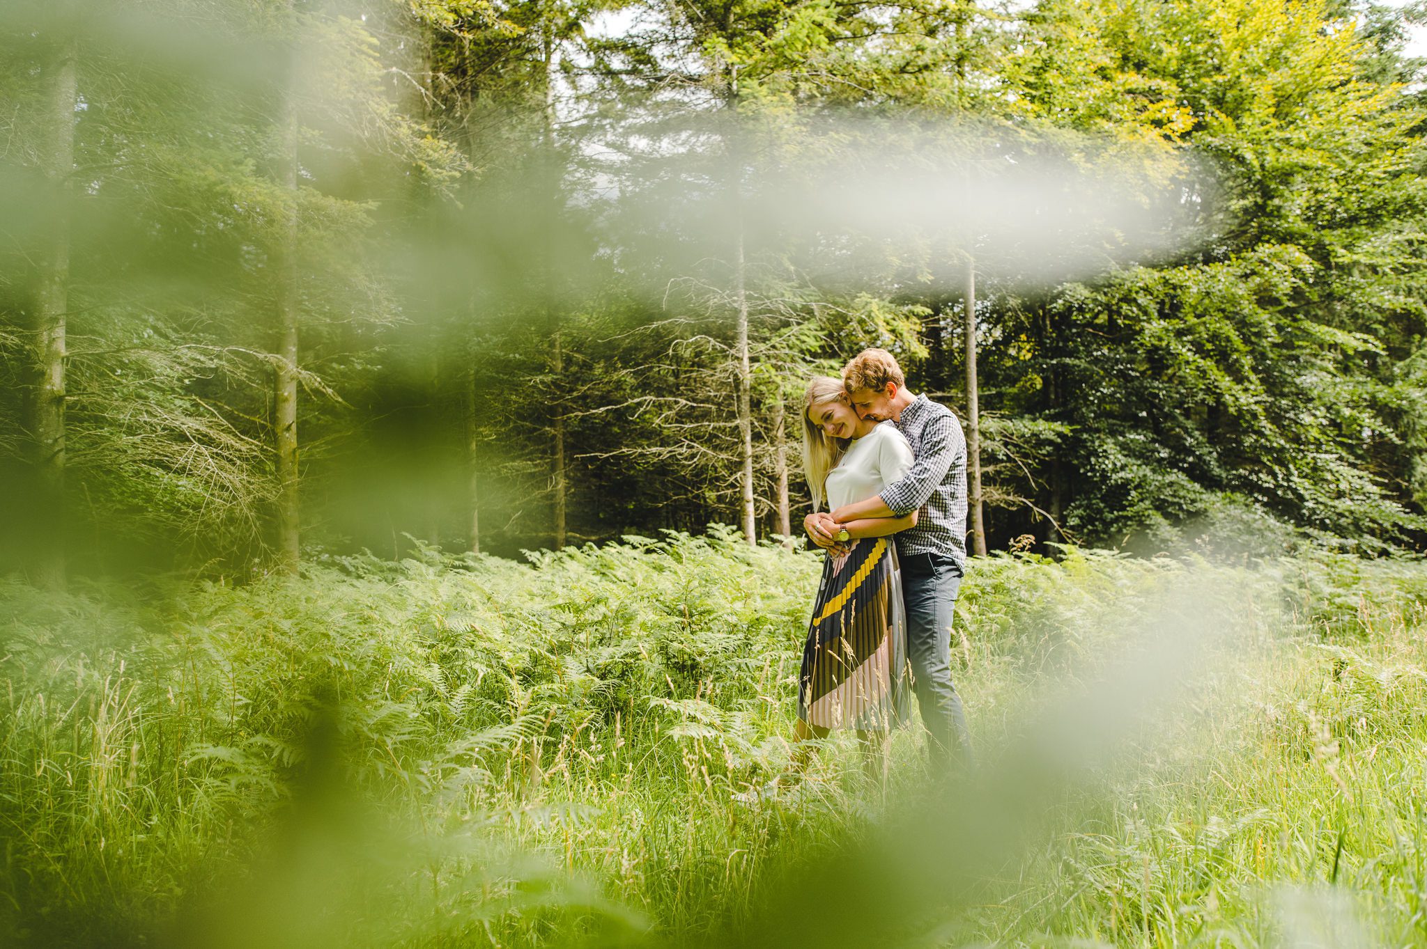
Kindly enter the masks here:
M 288 11 L 293 6 L 288 0 Z M 291 81 L 290 81 L 291 85 Z M 300 507 L 297 486 L 297 105 L 285 90 L 278 182 L 284 190 L 277 248 L 277 361 L 274 363 L 274 447 L 277 450 L 277 566 L 297 573 Z

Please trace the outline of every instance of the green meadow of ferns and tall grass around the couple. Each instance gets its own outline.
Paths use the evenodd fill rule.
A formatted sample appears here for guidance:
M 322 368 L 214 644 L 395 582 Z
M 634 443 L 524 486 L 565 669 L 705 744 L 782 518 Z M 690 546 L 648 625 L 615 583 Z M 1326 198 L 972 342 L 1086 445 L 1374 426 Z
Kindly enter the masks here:
M 789 768 L 818 570 L 714 531 L 0 586 L 0 936 L 1427 943 L 1421 561 L 977 561 L 932 816 L 916 728 L 736 799 Z

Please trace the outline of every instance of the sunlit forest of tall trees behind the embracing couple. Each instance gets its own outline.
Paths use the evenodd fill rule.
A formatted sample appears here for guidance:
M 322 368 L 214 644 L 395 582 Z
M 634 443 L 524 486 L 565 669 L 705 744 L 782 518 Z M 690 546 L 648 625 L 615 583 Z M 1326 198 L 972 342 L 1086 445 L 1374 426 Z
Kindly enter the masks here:
M 41 583 L 801 534 L 802 388 L 868 345 L 979 550 L 1421 547 L 1411 10 L 6 6 Z

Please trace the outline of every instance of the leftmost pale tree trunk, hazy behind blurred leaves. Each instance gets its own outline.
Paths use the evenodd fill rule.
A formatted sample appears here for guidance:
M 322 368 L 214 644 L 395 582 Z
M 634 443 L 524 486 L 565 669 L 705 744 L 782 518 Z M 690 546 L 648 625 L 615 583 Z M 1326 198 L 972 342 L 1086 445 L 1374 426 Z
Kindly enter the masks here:
M 64 332 L 70 295 L 70 177 L 74 171 L 74 107 L 78 93 L 76 57 L 71 38 L 56 51 L 54 58 L 50 138 L 41 161 L 44 177 L 59 197 L 59 207 L 46 247 L 39 254 L 31 313 L 37 379 L 27 422 L 40 512 L 31 579 L 49 588 L 63 588 L 66 581 Z

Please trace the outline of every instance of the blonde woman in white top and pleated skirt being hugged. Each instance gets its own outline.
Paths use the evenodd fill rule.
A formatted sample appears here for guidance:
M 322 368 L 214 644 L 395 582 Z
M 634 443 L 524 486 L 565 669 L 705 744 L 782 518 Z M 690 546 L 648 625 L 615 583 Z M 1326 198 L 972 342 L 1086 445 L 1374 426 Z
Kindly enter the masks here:
M 819 376 L 803 396 L 803 472 L 816 507 L 870 497 L 912 466 L 912 449 L 890 422 L 858 418 L 842 380 Z M 902 584 L 890 534 L 916 524 L 869 517 L 845 524 L 829 551 L 813 601 L 798 687 L 799 741 L 856 728 L 872 768 L 873 735 L 906 718 L 909 680 Z M 842 537 L 842 534 L 839 534 Z

